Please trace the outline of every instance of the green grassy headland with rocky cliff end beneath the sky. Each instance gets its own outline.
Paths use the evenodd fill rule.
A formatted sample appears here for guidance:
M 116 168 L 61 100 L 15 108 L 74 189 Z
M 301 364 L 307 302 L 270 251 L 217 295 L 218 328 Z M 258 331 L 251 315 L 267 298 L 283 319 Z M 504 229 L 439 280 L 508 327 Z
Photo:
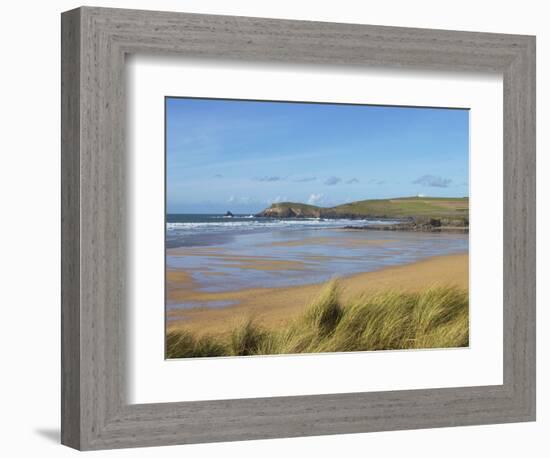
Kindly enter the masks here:
M 397 197 L 370 199 L 324 208 L 294 202 L 271 205 L 257 216 L 278 218 L 438 218 L 467 224 L 468 197 Z

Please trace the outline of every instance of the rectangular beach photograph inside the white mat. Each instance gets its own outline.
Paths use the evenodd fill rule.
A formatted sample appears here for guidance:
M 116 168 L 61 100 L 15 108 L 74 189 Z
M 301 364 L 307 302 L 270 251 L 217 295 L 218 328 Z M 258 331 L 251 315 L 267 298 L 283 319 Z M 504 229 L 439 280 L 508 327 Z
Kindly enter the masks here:
M 469 346 L 469 110 L 165 98 L 165 357 Z

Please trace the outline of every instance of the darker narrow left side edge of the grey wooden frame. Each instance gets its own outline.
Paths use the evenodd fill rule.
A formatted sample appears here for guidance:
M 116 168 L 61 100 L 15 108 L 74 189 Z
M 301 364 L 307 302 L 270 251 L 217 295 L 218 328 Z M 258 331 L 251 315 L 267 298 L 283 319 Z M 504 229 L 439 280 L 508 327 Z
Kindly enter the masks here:
M 61 441 L 80 445 L 80 14 L 61 24 Z

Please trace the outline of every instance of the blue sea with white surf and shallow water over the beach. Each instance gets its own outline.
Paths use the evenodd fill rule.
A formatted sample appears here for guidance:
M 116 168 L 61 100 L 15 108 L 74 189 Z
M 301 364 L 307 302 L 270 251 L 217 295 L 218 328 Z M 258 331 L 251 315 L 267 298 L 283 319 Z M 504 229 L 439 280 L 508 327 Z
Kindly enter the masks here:
M 431 256 L 468 252 L 467 234 L 344 229 L 398 222 L 168 214 L 166 267 L 189 272 L 198 291 L 225 292 L 320 283 Z

